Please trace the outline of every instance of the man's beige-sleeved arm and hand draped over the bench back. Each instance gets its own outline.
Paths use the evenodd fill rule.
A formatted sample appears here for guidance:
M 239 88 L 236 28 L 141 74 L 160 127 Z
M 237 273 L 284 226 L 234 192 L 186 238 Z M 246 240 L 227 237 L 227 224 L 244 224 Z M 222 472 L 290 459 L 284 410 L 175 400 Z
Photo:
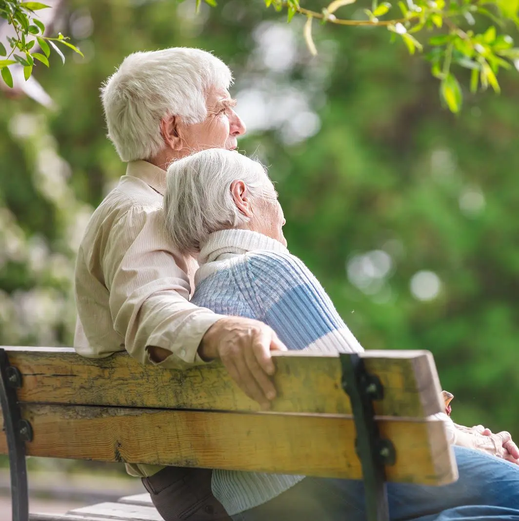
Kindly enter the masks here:
M 162 211 L 141 214 L 112 228 L 104 263 L 113 327 L 126 350 L 142 363 L 169 368 L 221 358 L 238 386 L 268 408 L 275 397 L 270 352 L 285 346 L 257 320 L 189 303 L 188 267 L 171 248 Z M 134 239 L 124 244 L 129 229 Z M 125 253 L 118 260 L 121 244 Z

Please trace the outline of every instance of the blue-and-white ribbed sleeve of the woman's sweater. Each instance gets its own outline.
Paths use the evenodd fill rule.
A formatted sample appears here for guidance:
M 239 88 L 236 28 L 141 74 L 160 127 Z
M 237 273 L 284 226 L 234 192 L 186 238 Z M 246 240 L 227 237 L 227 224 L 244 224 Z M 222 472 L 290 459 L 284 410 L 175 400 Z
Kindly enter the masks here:
M 289 350 L 356 353 L 362 346 L 348 329 L 317 278 L 294 255 L 249 255 L 242 281 L 245 296 L 256 306 Z

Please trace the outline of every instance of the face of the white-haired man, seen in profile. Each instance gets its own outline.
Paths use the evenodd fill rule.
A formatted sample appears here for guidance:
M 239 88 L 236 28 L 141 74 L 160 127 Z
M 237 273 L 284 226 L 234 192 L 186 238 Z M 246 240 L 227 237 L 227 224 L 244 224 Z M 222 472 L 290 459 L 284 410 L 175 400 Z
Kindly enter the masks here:
M 211 89 L 207 95 L 206 119 L 196 125 L 179 125 L 185 148 L 189 152 L 206 148 L 234 150 L 237 147 L 236 138 L 246 131 L 243 121 L 233 109 L 235 105 L 228 91 Z

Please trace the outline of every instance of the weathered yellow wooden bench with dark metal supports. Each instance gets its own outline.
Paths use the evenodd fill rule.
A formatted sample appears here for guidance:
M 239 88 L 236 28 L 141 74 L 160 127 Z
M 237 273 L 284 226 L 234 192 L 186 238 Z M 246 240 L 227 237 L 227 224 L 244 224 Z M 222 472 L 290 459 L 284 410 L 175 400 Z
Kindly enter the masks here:
M 385 481 L 457 479 L 445 425 L 430 417 L 444 410 L 431 353 L 274 361 L 278 397 L 261 412 L 220 363 L 181 371 L 125 353 L 0 348 L 13 521 L 28 519 L 26 455 L 364 479 L 366 515 L 377 521 L 388 519 Z

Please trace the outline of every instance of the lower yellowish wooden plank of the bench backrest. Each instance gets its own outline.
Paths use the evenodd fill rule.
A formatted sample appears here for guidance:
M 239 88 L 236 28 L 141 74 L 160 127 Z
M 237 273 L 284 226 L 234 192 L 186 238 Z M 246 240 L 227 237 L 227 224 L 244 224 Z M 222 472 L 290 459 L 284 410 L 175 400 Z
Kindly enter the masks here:
M 22 405 L 34 440 L 27 453 L 71 459 L 361 478 L 350 416 L 220 413 L 94 406 Z M 390 481 L 452 482 L 445 424 L 379 418 L 395 444 Z M 5 454 L 0 436 L 0 453 Z

